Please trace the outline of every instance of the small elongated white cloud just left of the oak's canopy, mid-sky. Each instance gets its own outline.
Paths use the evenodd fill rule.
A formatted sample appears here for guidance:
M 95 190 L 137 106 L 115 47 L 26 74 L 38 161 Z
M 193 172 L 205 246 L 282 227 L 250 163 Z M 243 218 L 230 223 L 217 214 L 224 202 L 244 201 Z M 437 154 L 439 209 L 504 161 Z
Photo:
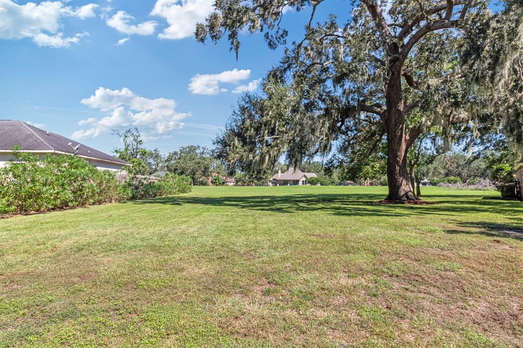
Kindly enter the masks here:
M 225 88 L 220 88 L 220 83 L 238 83 L 241 80 L 249 78 L 249 75 L 251 75 L 249 69 L 233 69 L 220 74 L 198 74 L 191 77 L 189 90 L 192 94 L 217 95 L 220 92 L 227 91 Z

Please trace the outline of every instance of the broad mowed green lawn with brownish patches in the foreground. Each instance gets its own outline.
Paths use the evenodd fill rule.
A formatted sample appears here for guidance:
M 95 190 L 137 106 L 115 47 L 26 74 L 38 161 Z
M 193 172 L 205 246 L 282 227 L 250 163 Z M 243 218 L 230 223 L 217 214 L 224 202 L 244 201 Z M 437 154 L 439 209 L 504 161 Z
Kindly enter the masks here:
M 523 346 L 523 204 L 195 187 L 0 220 L 0 346 Z

